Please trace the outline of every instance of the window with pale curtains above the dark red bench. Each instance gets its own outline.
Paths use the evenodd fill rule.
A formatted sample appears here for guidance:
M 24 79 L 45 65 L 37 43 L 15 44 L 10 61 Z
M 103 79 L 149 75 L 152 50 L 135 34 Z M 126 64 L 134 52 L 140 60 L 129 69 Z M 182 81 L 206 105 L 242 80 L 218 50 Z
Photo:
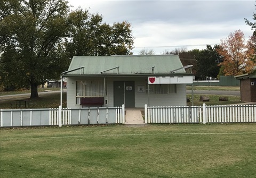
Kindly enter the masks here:
M 103 80 L 81 80 L 76 81 L 76 104 L 80 104 L 81 97 L 103 97 L 107 96 L 107 89 L 104 90 Z

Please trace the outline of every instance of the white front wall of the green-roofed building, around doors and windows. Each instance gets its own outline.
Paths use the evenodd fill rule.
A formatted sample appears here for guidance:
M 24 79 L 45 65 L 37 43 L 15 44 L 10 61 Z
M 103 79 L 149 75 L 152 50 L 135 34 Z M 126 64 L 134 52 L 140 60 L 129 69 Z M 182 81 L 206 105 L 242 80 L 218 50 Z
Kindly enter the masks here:
M 93 78 L 95 80 L 95 78 Z M 91 79 L 91 80 L 93 80 Z M 82 78 L 67 78 L 67 107 L 68 108 L 81 108 L 76 105 L 76 81 L 83 80 Z M 89 78 L 84 80 L 90 80 Z M 134 81 L 135 90 L 135 107 L 148 106 L 186 106 L 186 84 L 177 84 L 177 94 L 150 94 L 148 103 L 148 94 L 146 92 L 138 92 L 138 86 L 145 86 L 147 77 L 143 78 L 106 78 L 107 83 L 107 99 L 108 103 L 104 107 L 114 106 L 114 81 Z

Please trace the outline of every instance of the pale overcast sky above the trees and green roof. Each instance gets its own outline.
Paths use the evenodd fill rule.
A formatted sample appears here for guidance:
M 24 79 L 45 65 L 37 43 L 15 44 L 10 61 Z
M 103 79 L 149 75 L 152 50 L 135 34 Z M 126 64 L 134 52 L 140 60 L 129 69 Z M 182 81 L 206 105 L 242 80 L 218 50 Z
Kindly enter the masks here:
M 183 47 L 204 49 L 239 29 L 248 39 L 253 31 L 244 18 L 253 21 L 256 13 L 255 1 L 68 1 L 74 9 L 98 12 L 103 22 L 131 23 L 134 54 L 143 48 L 155 54 Z

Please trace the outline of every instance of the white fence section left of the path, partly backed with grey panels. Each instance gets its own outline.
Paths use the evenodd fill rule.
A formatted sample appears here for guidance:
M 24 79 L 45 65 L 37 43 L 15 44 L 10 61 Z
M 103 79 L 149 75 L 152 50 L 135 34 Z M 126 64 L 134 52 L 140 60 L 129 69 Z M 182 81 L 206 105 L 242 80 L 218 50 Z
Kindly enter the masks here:
M 122 107 L 50 108 L 50 109 L 1 109 L 1 127 L 124 124 Z

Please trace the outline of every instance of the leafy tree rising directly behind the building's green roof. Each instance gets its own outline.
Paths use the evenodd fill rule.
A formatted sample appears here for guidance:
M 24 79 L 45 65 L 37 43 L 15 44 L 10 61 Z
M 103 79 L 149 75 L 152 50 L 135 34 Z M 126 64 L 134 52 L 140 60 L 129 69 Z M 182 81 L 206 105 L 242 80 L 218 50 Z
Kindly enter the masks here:
M 133 36 L 131 24 L 102 23 L 102 16 L 90 14 L 81 8 L 69 14 L 69 33 L 64 46 L 68 57 L 79 55 L 126 55 L 132 54 Z

